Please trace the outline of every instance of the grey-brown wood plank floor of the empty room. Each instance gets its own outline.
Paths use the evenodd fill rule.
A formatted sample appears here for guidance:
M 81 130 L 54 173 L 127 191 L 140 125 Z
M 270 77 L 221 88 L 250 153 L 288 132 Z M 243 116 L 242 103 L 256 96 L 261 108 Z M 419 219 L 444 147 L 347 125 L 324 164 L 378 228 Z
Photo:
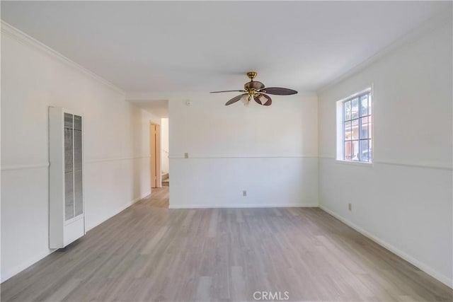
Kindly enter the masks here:
M 452 301 L 321 209 L 168 209 L 168 187 L 1 284 L 1 301 Z M 259 297 L 259 296 L 256 296 Z

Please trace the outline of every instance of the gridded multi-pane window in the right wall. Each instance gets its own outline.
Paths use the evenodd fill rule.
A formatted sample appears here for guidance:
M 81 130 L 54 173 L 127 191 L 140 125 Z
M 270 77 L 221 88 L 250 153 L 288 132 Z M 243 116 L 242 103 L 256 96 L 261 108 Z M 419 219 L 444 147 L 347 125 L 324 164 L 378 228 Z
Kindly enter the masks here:
M 337 159 L 343 161 L 372 161 L 371 90 L 357 93 L 337 105 Z

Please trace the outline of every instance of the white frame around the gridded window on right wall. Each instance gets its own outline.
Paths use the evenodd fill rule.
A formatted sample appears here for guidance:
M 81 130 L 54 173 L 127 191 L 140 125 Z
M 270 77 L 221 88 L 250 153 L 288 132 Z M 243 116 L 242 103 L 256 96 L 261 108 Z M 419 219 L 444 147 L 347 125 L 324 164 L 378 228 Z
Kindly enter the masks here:
M 343 104 L 348 101 L 352 100 L 353 98 L 357 98 L 357 96 L 364 95 L 366 93 L 369 93 L 369 96 L 371 98 L 371 110 L 372 114 L 369 116 L 371 119 L 371 124 L 372 124 L 372 131 L 370 132 L 371 134 L 371 139 L 370 139 L 370 144 L 371 144 L 371 150 L 372 150 L 372 157 L 369 158 L 369 161 L 352 161 L 352 160 L 347 160 L 345 159 L 345 137 L 344 137 L 344 113 L 343 113 Z M 359 117 L 360 119 L 360 117 Z M 361 165 L 361 166 L 372 166 L 374 162 L 374 97 L 373 97 L 373 89 L 372 85 L 363 89 L 362 91 L 359 91 L 357 93 L 354 93 L 352 95 L 349 95 L 347 98 L 343 98 L 341 100 L 338 100 L 336 102 L 336 161 L 338 163 L 347 163 L 351 165 Z M 361 135 L 361 134 L 359 134 Z M 359 137 L 359 144 L 360 144 L 360 137 Z

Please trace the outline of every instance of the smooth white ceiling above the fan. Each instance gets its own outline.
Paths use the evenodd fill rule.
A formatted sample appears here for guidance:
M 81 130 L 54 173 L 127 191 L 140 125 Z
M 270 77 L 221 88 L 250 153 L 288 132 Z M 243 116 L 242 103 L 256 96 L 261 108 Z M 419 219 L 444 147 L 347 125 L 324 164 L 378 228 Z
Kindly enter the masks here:
M 125 91 L 316 91 L 450 1 L 1 1 L 1 18 Z

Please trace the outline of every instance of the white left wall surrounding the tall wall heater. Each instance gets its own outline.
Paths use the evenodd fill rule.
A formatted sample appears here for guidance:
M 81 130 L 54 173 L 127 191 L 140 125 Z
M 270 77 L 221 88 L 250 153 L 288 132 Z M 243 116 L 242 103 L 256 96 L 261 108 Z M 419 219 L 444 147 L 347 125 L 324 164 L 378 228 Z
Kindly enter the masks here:
M 47 108 L 84 114 L 86 227 L 150 192 L 149 121 L 124 94 L 2 24 L 1 280 L 48 248 Z

